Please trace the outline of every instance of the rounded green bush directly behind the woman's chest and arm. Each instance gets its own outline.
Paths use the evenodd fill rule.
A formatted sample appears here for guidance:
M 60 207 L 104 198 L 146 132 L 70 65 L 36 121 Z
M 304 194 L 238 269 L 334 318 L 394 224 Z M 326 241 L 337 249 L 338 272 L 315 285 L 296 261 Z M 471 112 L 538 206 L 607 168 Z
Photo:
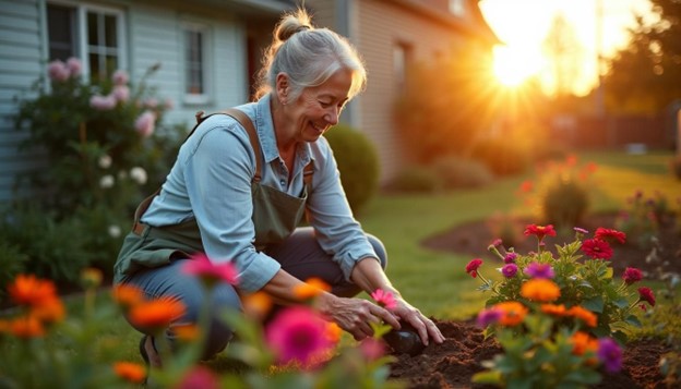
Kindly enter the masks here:
M 379 186 L 379 156 L 369 138 L 347 125 L 339 124 L 324 134 L 333 149 L 340 182 L 353 211 L 359 212 Z

